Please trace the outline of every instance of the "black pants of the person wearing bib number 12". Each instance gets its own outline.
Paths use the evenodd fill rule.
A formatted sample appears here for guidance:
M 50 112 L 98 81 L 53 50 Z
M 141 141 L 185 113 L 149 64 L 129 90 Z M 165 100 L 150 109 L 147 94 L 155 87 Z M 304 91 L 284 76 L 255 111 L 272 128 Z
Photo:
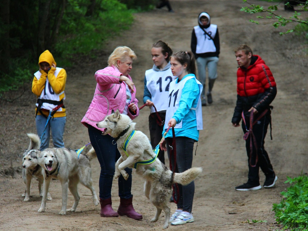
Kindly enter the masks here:
M 159 112 L 158 114 L 162 120 L 165 119 L 166 113 Z M 156 123 L 156 119 L 157 119 L 157 115 L 155 112 L 149 115 L 150 139 L 151 139 L 151 145 L 153 149 L 156 147 L 156 145 L 160 142 L 161 138 L 163 137 L 162 133 L 164 129 L 164 124 L 162 126 L 159 126 Z M 159 149 L 157 157 L 160 160 L 160 162 L 165 164 L 165 152 L 163 150 Z

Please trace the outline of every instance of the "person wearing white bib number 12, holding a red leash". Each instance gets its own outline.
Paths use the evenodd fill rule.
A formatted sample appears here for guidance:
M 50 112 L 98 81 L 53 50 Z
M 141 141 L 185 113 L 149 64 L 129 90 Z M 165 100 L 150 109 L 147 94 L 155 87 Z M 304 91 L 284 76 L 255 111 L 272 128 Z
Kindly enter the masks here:
M 169 84 L 176 78 L 172 75 L 169 62 L 172 50 L 167 43 L 158 41 L 152 45 L 152 69 L 145 71 L 143 103 L 150 107 L 149 130 L 152 148 L 160 142 L 169 95 Z M 155 111 L 155 108 L 157 112 Z M 164 151 L 160 149 L 158 159 L 165 164 Z

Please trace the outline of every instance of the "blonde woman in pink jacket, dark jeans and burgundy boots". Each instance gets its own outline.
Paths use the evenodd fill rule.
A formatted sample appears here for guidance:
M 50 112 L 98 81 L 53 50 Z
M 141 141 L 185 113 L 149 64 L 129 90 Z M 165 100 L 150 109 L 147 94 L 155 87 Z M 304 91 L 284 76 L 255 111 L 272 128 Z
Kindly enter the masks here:
M 108 58 L 108 67 L 95 73 L 96 88 L 92 102 L 81 120 L 88 128 L 89 137 L 95 149 L 97 159 L 101 167 L 99 176 L 99 199 L 101 217 L 128 216 L 135 220 L 141 220 L 142 215 L 137 213 L 132 206 L 132 169 L 126 168 L 129 174 L 128 180 L 119 177 L 120 206 L 117 212 L 111 207 L 111 186 L 115 172 L 115 162 L 120 158 L 120 152 L 116 145 L 112 144 L 109 135 L 102 135 L 102 128 L 96 124 L 102 121 L 112 110 L 119 109 L 120 113 L 134 119 L 139 114 L 138 100 L 135 98 L 136 88 L 129 76 L 133 59 L 136 59 L 134 51 L 129 47 L 116 47 Z

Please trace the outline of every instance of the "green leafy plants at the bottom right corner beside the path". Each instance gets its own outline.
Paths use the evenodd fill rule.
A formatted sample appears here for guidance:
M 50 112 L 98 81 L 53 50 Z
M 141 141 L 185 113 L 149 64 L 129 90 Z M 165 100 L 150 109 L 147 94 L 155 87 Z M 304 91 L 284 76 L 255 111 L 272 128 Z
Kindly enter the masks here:
M 293 231 L 308 230 L 308 177 L 287 177 L 285 184 L 291 186 L 283 196 L 279 204 L 273 204 L 276 221 L 284 225 L 284 229 Z

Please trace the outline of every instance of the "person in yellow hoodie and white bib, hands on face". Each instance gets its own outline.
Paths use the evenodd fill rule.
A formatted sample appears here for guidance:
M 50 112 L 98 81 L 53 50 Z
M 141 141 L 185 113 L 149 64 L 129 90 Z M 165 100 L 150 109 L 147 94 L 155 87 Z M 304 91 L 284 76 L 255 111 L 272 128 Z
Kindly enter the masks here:
M 34 73 L 32 92 L 37 96 L 35 123 L 41 138 L 40 150 L 49 146 L 50 130 L 55 148 L 64 148 L 63 133 L 66 123 L 65 99 L 66 71 L 57 67 L 54 57 L 46 50 L 39 56 L 39 71 Z M 52 118 L 48 120 L 50 115 Z

